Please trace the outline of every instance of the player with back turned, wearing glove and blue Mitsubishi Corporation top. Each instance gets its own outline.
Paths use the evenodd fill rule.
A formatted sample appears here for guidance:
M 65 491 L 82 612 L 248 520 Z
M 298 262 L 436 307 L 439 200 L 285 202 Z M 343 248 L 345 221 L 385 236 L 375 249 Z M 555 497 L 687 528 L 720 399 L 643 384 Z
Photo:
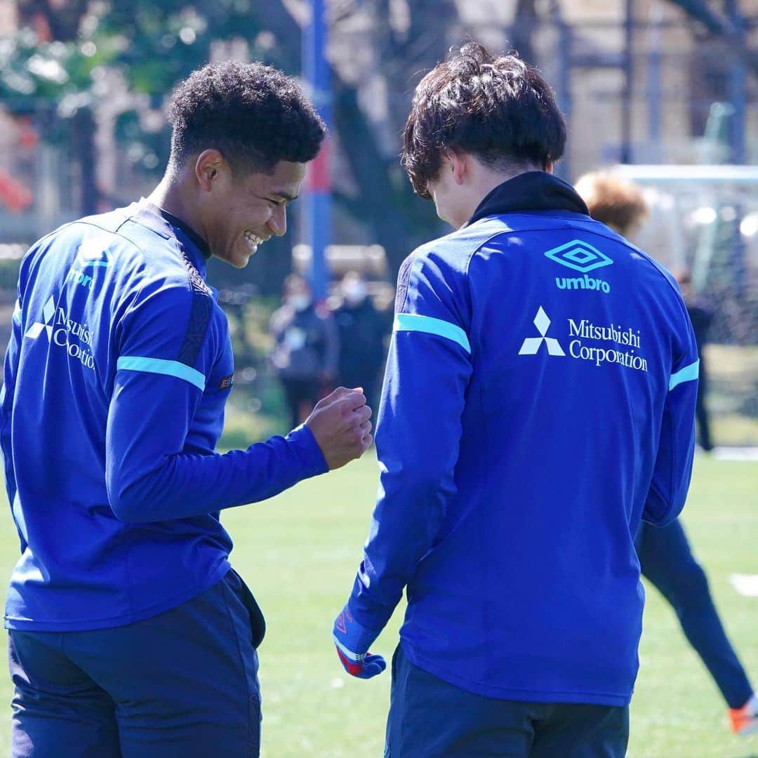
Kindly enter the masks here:
M 386 755 L 623 756 L 634 534 L 691 475 L 697 348 L 671 275 L 551 174 L 565 125 L 515 55 L 427 74 L 403 161 L 455 231 L 402 266 L 381 485 L 334 624 L 368 678 L 403 587 Z

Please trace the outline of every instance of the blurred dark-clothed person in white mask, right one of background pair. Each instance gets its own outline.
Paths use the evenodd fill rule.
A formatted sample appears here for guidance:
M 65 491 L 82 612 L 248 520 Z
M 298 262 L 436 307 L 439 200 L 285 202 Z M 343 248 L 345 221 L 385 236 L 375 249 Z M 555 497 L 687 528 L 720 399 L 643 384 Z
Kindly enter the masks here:
M 365 279 L 348 271 L 340 283 L 342 302 L 334 310 L 340 332 L 340 384 L 362 387 L 369 405 L 377 393 L 379 371 L 384 363 L 386 320 L 368 296 Z

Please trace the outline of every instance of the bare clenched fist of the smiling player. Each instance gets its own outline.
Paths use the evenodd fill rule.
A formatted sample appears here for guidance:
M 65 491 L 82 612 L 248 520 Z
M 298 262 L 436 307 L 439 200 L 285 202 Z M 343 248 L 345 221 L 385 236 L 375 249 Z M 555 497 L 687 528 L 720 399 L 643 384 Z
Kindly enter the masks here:
M 333 469 L 360 458 L 371 447 L 369 418 L 371 409 L 361 387 L 337 387 L 316 403 L 305 424 L 316 438 L 327 466 Z

